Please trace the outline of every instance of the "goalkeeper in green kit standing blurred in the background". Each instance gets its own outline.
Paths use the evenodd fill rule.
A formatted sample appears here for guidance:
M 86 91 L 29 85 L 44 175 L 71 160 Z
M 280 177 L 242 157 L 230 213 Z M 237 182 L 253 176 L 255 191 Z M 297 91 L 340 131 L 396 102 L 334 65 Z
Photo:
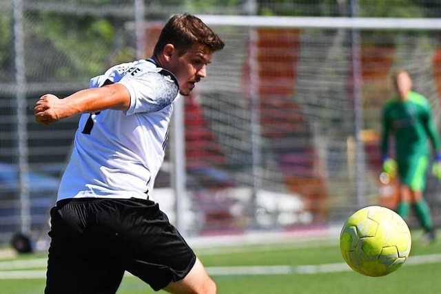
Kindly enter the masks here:
M 399 70 L 393 76 L 396 96 L 384 104 L 382 112 L 382 162 L 383 171 L 400 181 L 400 201 L 396 207 L 402 218 L 410 209 L 415 211 L 424 228 L 423 240 L 435 240 L 431 211 L 422 196 L 429 167 L 428 139 L 435 153 L 432 172 L 441 179 L 440 138 L 431 116 L 431 107 L 424 96 L 412 91 L 408 72 Z M 396 160 L 389 157 L 389 136 L 395 142 Z

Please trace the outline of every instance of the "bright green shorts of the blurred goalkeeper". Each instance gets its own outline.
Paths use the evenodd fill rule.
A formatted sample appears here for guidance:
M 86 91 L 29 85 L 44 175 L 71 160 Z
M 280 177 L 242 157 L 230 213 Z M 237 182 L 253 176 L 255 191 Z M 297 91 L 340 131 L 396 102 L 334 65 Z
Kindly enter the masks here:
M 426 187 L 429 157 L 426 155 L 409 156 L 405 160 L 398 160 L 397 163 L 400 183 L 407 185 L 413 191 L 423 191 Z

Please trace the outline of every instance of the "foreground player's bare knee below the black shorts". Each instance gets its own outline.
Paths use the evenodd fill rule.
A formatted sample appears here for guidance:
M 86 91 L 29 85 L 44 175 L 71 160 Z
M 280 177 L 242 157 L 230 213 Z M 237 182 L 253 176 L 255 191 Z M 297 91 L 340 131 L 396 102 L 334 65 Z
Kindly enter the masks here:
M 170 282 L 163 290 L 173 294 L 214 294 L 216 293 L 216 284 L 208 276 L 201 261 L 196 259 L 192 270 L 183 280 Z

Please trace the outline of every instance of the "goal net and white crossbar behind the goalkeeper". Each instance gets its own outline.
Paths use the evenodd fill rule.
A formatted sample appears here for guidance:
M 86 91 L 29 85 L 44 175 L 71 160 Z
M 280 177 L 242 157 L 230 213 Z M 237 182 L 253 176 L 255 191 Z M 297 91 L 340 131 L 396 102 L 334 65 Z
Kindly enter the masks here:
M 382 104 L 391 73 L 408 70 L 438 125 L 440 19 L 200 17 L 226 45 L 185 98 L 187 194 L 204 220 L 190 231 L 395 206 L 394 183 L 378 180 Z M 438 188 L 429 175 L 434 210 Z

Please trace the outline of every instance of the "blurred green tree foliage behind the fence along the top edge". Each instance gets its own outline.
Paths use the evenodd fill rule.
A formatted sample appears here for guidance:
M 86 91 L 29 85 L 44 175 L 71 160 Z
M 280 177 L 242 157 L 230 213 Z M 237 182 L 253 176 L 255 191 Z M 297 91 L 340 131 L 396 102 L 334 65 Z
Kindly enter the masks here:
M 26 0 L 31 1 L 31 0 Z M 146 5 L 176 6 L 176 11 L 191 13 L 244 14 L 248 0 L 162 0 L 145 1 Z M 93 9 L 107 6 L 130 6 L 131 0 L 39 0 L 39 3 L 75 4 Z M 63 4 L 64 3 L 64 4 Z M 441 5 L 429 0 L 256 0 L 260 15 L 347 17 L 351 4 L 358 5 L 360 17 L 433 17 L 439 14 Z M 153 6 L 152 6 L 153 7 Z M 12 6 L 0 14 L 0 73 L 3 81 L 13 69 Z M 150 10 L 146 14 L 152 13 Z M 170 16 L 170 11 L 162 18 Z M 39 81 L 67 81 L 72 75 L 89 77 L 116 61 L 134 58 L 134 40 L 128 38 L 127 23 L 134 17 L 109 14 L 79 14 L 52 12 L 51 10 L 25 11 L 24 28 L 27 55 L 32 56 L 32 69 L 28 76 L 40 75 Z M 156 14 L 157 15 L 157 14 Z M 49 57 L 48 57 L 49 56 Z M 29 59 L 30 57 L 28 57 Z M 54 66 L 55 59 L 61 59 Z M 42 74 L 44 73 L 44 74 Z

